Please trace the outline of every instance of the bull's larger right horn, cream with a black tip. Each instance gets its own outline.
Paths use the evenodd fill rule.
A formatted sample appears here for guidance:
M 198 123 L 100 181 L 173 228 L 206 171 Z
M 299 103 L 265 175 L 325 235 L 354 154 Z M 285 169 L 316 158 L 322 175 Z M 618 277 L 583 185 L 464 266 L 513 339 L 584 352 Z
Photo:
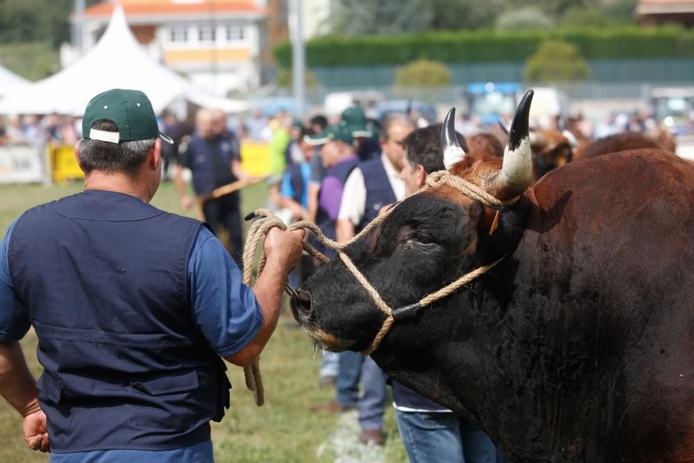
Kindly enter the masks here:
M 532 180 L 532 157 L 528 133 L 532 95 L 532 90 L 528 90 L 523 95 L 521 103 L 518 103 L 514 120 L 511 122 L 511 130 L 509 130 L 509 140 L 504 150 L 504 162 L 493 185 L 492 194 L 502 201 L 523 193 Z

